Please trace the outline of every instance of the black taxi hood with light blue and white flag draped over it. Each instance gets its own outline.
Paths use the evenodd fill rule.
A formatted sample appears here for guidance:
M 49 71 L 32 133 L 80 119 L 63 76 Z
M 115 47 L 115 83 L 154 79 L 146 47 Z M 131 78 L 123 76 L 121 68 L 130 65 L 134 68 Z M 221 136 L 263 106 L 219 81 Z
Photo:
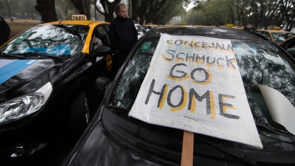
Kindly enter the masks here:
M 54 83 L 69 63 L 69 59 L 0 59 L 0 103 Z

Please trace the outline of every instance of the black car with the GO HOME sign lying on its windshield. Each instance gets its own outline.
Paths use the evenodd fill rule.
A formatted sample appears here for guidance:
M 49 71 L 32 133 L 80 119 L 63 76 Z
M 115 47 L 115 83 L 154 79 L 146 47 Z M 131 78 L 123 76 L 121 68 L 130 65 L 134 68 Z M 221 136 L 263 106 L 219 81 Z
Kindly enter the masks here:
M 251 116 L 255 121 L 254 126 L 257 128 L 259 138 L 263 145 L 257 148 L 243 143 L 216 138 L 214 136 L 215 133 L 211 133 L 211 136 L 195 133 L 193 140 L 193 165 L 295 164 L 294 133 L 274 120 L 274 117 L 270 115 L 270 109 L 272 107 L 267 104 L 269 103 L 267 102 L 267 97 L 270 97 L 268 100 L 273 99 L 277 101 L 284 96 L 287 102 L 290 103 L 290 108 L 295 106 L 295 94 L 293 93 L 295 89 L 294 60 L 272 41 L 243 29 L 169 26 L 157 27 L 144 34 L 125 60 L 113 81 L 104 77 L 97 79 L 96 84 L 98 89 L 105 92 L 103 102 L 100 104 L 98 112 L 92 119 L 87 130 L 64 160 L 63 165 L 181 164 L 183 130 L 154 125 L 130 116 L 130 111 L 133 109 L 134 103 L 138 101 L 137 97 L 140 90 L 145 88 L 142 85 L 147 72 L 150 71 L 150 64 L 154 63 L 152 58 L 154 56 L 163 56 L 163 54 L 155 53 L 162 34 L 195 36 L 195 41 L 200 37 L 214 37 L 215 40 L 229 39 L 231 41 L 232 50 L 241 75 L 242 87 L 245 90 L 245 99 L 248 102 L 247 105 L 244 105 L 244 108 L 246 109 L 249 106 Z M 171 41 L 167 40 L 168 42 Z M 172 44 L 177 45 L 183 43 L 185 41 L 178 40 Z M 187 43 L 187 45 L 190 45 L 190 43 Z M 211 49 L 209 46 L 211 47 L 212 45 L 198 43 L 196 45 L 192 44 L 191 46 Z M 220 49 L 225 48 L 221 45 L 218 47 Z M 166 53 L 170 54 L 171 57 L 175 57 L 175 50 L 173 49 L 167 50 Z M 185 59 L 181 58 L 185 54 L 178 54 L 177 56 L 179 56 L 178 60 L 180 63 L 185 63 Z M 187 56 L 187 58 L 192 57 Z M 166 60 L 171 59 L 167 58 Z M 225 59 L 216 59 L 215 62 L 222 66 L 222 60 Z M 229 66 L 231 62 L 234 63 L 234 61 L 230 60 L 227 60 L 227 62 Z M 186 67 L 185 64 L 182 65 Z M 197 63 L 196 66 L 198 66 Z M 179 79 L 183 79 L 187 75 L 194 77 L 193 74 L 189 75 L 177 67 L 176 69 L 178 71 L 175 71 L 183 75 Z M 194 71 L 196 72 L 196 70 Z M 199 69 L 199 71 L 201 70 Z M 154 74 L 154 76 L 156 77 L 157 75 Z M 206 74 L 206 76 L 206 78 L 210 77 L 209 74 Z M 232 84 L 233 90 L 231 91 L 235 91 L 235 85 L 237 83 L 230 80 L 228 82 Z M 153 83 L 150 84 L 151 87 L 156 87 L 156 83 Z M 267 95 L 265 92 L 262 92 L 262 86 L 274 90 L 274 94 L 282 95 L 278 96 L 272 93 Z M 180 87 L 178 88 L 181 89 Z M 223 88 L 223 85 L 217 85 L 217 87 Z M 200 86 L 195 86 L 195 89 L 198 88 Z M 149 92 L 150 98 L 149 100 L 145 100 L 146 103 L 155 98 L 157 101 L 158 96 L 163 97 L 166 94 L 161 93 L 165 92 L 164 86 L 162 91 L 159 88 Z M 180 101 L 184 101 L 182 99 L 179 98 Z M 210 99 L 207 99 L 208 102 Z M 168 100 L 168 98 L 166 100 L 164 104 L 174 106 L 173 100 Z M 220 101 L 219 103 L 222 102 Z M 158 106 L 160 105 L 161 102 L 159 101 Z M 147 105 L 142 104 L 139 107 L 144 108 Z M 230 104 L 227 107 L 233 108 Z M 286 110 L 279 109 L 274 111 L 284 114 L 283 111 Z M 222 112 L 221 110 L 220 115 L 224 116 L 224 114 L 225 111 Z M 216 113 L 216 116 L 220 115 Z M 210 113 L 207 115 L 204 114 L 204 116 L 210 116 Z M 158 121 L 168 118 L 170 117 L 161 118 Z M 237 117 L 232 116 L 231 118 Z M 242 125 L 247 128 L 246 123 Z M 224 128 L 235 129 L 238 126 L 224 126 Z M 226 136 L 231 137 L 234 134 L 233 132 L 228 132 Z M 247 137 L 252 136 L 248 135 Z

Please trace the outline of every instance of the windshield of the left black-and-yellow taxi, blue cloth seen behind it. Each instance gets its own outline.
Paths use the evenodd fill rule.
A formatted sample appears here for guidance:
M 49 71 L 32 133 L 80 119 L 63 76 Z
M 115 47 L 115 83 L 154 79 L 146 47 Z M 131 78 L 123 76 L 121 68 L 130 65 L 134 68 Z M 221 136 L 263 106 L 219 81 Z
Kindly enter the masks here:
M 82 25 L 35 26 L 3 46 L 1 55 L 71 56 L 82 50 L 88 30 Z

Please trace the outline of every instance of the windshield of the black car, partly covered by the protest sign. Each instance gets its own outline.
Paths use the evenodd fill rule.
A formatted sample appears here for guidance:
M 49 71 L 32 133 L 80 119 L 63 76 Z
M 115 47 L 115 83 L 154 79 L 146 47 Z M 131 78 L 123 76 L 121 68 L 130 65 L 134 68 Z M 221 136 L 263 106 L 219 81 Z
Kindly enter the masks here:
M 112 133 L 115 132 L 114 135 L 118 136 L 118 139 L 127 139 L 131 142 L 134 139 L 127 136 L 124 137 L 122 132 L 116 135 L 119 130 L 122 130 L 139 140 L 153 144 L 151 146 L 159 145 L 159 148 L 166 147 L 170 150 L 178 149 L 181 151 L 181 146 L 179 146 L 179 144 L 181 145 L 182 141 L 182 130 L 152 125 L 128 115 L 149 69 L 158 40 L 159 38 L 145 38 L 138 45 L 118 80 L 118 83 L 115 85 L 114 92 L 112 92 L 108 104 L 108 109 L 103 113 L 102 121 L 106 129 L 110 127 L 109 131 Z M 293 93 L 295 90 L 295 65 L 293 59 L 270 41 L 231 39 L 231 43 L 242 76 L 249 107 L 263 144 L 263 149 L 260 150 L 260 154 L 263 155 L 264 151 L 280 151 L 280 153 L 284 151 L 294 152 L 294 135 L 287 132 L 281 125 L 273 123 L 268 106 L 265 104 L 265 99 L 258 87 L 259 85 L 265 85 L 277 90 L 289 100 L 292 106 L 295 106 L 295 93 Z M 149 47 L 145 47 L 147 44 Z M 272 97 L 277 98 L 276 96 Z M 109 116 L 109 114 L 112 114 L 112 116 Z M 124 121 L 122 121 L 122 119 L 124 119 Z M 127 125 L 126 121 L 128 121 L 129 125 Z M 134 126 L 130 126 L 130 123 L 133 123 Z M 117 128 L 114 129 L 114 126 L 117 126 Z M 180 142 L 176 140 L 180 140 Z M 215 147 L 226 147 L 226 149 L 231 149 L 240 154 L 250 153 L 248 150 L 258 150 L 255 147 L 244 144 L 195 134 L 194 155 L 212 155 L 211 153 L 205 154 L 204 151 L 206 150 L 202 150 L 204 142 L 206 142 L 205 144 L 211 142 L 210 145 L 214 144 Z M 145 146 L 145 144 L 142 146 L 137 145 L 138 142 L 133 143 L 136 144 L 135 148 L 139 148 L 140 151 L 145 148 L 151 148 Z M 284 155 L 284 153 L 281 155 Z M 166 157 L 168 156 L 166 155 Z M 256 155 L 252 157 L 259 158 L 261 156 Z

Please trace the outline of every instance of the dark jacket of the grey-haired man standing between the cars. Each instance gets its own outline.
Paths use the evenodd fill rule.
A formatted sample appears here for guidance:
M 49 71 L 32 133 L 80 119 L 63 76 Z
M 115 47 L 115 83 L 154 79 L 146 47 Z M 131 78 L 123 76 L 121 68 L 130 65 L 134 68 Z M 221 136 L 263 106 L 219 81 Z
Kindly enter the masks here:
M 136 41 L 137 30 L 130 18 L 116 17 L 110 24 L 109 36 L 113 52 L 128 54 Z

